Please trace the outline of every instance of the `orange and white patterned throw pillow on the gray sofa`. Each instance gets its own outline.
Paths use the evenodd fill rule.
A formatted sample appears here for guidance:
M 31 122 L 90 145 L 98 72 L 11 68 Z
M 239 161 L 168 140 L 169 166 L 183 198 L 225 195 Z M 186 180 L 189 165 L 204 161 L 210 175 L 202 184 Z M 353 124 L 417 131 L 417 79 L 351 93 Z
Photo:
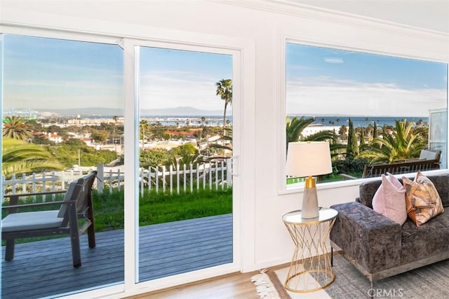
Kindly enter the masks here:
M 402 178 L 406 189 L 407 214 L 417 226 L 426 223 L 436 215 L 443 213 L 443 204 L 434 183 L 421 172 L 416 174 L 415 180 Z

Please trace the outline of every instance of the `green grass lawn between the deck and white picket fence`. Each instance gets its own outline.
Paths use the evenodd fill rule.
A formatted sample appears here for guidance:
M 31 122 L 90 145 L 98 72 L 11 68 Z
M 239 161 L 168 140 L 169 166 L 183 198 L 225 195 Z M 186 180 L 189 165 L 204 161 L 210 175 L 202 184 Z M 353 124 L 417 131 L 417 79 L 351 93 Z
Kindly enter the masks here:
M 62 200 L 61 195 L 55 197 L 55 201 Z M 47 197 L 47 201 L 50 198 Z M 20 199 L 19 203 L 42 202 L 41 197 L 36 200 L 32 198 Z M 95 231 L 119 230 L 123 229 L 123 189 L 113 190 L 109 193 L 105 190 L 98 193 L 93 190 L 93 207 L 95 217 Z M 7 205 L 5 203 L 4 205 Z M 59 205 L 40 208 L 59 209 Z M 37 211 L 39 208 L 20 209 L 19 211 Z M 7 211 L 2 211 L 2 218 Z M 151 225 L 156 223 L 166 223 L 206 216 L 215 216 L 232 213 L 232 188 L 225 190 L 194 190 L 186 193 L 155 193 L 146 192 L 139 199 L 139 225 Z M 58 236 L 59 237 L 59 236 Z M 50 239 L 51 237 L 17 239 L 17 243 L 32 242 L 38 239 Z M 3 242 L 2 242 L 2 245 Z

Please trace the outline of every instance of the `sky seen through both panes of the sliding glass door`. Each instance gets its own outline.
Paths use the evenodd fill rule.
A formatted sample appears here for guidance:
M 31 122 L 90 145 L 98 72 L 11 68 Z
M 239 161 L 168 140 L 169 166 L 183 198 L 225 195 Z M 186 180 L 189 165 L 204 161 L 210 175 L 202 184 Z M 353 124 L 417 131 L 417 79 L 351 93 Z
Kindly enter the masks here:
M 123 109 L 119 46 L 7 35 L 4 65 L 5 109 Z M 230 55 L 142 47 L 140 108 L 222 111 L 223 78 L 232 78 Z

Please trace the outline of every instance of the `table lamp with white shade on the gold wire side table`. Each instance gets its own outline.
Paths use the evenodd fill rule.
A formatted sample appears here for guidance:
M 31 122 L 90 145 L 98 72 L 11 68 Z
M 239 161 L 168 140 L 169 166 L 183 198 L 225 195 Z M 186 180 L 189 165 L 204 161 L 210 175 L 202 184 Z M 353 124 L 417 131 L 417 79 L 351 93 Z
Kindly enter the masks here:
M 290 142 L 287 151 L 289 176 L 307 177 L 302 197 L 302 218 L 319 216 L 315 179 L 312 176 L 330 174 L 330 148 L 328 141 Z

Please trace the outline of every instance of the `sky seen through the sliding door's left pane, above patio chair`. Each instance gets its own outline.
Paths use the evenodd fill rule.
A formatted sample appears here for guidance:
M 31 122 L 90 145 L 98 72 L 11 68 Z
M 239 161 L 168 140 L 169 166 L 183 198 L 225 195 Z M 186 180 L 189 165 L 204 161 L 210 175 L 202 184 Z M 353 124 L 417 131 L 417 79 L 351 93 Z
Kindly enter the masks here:
M 123 54 L 115 45 L 4 36 L 4 108 L 122 108 Z

